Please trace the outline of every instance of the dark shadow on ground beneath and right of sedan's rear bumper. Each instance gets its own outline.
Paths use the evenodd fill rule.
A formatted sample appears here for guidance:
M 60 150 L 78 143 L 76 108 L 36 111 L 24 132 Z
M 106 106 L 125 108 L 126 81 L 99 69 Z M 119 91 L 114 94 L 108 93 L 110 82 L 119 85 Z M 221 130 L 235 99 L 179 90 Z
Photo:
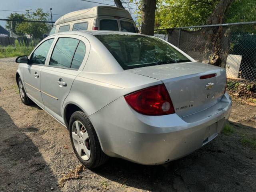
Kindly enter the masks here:
M 255 128 L 237 123 L 235 126 L 256 135 Z M 156 151 L 151 152 L 157 155 Z M 163 166 L 143 166 L 111 158 L 95 173 L 124 187 L 149 191 L 254 192 L 256 152 L 242 146 L 238 134 L 220 134 L 189 156 Z

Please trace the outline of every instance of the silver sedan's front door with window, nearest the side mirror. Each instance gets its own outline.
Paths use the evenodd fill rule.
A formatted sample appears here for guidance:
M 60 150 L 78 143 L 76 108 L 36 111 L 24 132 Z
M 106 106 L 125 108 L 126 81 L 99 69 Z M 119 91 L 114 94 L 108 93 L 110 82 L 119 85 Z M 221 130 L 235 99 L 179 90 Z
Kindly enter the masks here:
M 23 70 L 24 86 L 28 96 L 43 108 L 40 79 L 41 70 L 48 58 L 54 38 L 42 42 L 31 54 L 29 64 Z

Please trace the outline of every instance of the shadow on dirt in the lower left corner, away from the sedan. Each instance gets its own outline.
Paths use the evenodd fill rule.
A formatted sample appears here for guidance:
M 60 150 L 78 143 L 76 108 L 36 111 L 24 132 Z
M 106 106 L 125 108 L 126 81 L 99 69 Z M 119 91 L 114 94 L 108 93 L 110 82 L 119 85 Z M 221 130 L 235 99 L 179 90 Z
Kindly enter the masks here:
M 57 178 L 37 146 L 1 107 L 0 114 L 0 191 L 58 191 Z M 34 131 L 32 127 L 25 130 Z

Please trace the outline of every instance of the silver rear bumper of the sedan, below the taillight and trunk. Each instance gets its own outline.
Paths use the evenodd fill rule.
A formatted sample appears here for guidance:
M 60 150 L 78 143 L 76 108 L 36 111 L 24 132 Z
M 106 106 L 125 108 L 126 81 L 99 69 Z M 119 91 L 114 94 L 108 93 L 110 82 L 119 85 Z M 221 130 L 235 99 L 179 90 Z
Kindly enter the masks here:
M 190 154 L 217 136 L 230 116 L 232 101 L 225 93 L 216 105 L 180 118 L 177 114 L 145 116 L 124 98 L 89 118 L 108 156 L 139 164 L 164 164 Z

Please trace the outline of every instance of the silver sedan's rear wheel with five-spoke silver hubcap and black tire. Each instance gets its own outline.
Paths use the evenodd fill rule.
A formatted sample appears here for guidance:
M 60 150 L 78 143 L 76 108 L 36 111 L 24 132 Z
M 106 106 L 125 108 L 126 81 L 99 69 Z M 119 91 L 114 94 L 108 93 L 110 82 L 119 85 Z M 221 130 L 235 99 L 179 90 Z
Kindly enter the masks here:
M 102 152 L 94 127 L 84 112 L 72 114 L 69 133 L 73 150 L 86 168 L 96 168 L 106 162 L 108 156 Z

